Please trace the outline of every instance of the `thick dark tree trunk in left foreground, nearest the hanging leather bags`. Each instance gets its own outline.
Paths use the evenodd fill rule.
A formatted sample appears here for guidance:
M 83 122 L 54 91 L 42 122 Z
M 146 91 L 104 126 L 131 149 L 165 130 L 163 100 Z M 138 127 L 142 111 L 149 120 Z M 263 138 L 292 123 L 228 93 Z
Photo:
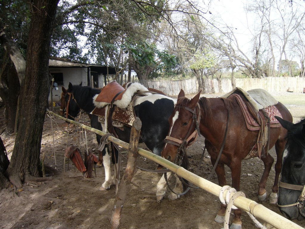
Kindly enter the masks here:
M 49 47 L 57 1 L 34 0 L 25 78 L 20 88 L 20 122 L 11 163 L 9 180 L 21 187 L 25 178 L 41 175 L 40 148 L 45 111 L 50 91 L 48 74 Z

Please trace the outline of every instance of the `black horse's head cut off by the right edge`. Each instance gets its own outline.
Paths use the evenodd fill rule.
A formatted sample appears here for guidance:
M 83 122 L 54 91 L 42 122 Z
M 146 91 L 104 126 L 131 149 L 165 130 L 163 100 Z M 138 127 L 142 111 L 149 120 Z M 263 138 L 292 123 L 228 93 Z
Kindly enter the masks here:
M 305 119 L 293 124 L 276 117 L 288 130 L 283 153 L 278 206 L 289 220 L 305 219 Z

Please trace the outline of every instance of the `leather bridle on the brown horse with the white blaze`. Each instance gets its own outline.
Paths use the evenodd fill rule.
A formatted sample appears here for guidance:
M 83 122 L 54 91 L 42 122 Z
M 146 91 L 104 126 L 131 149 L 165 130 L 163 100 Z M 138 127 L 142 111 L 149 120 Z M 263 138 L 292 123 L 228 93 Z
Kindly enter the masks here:
M 196 107 L 194 108 L 194 110 L 192 110 L 189 107 L 184 107 L 184 106 L 181 106 L 181 105 L 178 105 L 176 107 L 177 108 L 183 108 L 183 109 L 185 109 L 185 110 L 187 110 L 187 111 L 189 111 L 193 114 L 192 125 L 190 125 L 190 128 L 188 129 L 188 133 L 186 134 L 184 140 L 180 140 L 180 139 L 177 139 L 177 138 L 174 138 L 174 137 L 171 137 L 171 136 L 166 136 L 165 140 L 164 140 L 165 143 L 169 143 L 169 144 L 178 146 L 177 156 L 175 158 L 174 163 L 179 165 L 179 164 L 181 164 L 182 158 L 184 157 L 186 147 L 192 145 L 196 141 L 198 135 L 200 136 L 200 131 L 199 131 L 200 115 L 199 115 L 199 111 L 198 111 L 198 115 L 197 115 Z M 193 133 L 191 133 L 191 129 L 192 129 L 192 127 L 195 123 L 196 123 L 196 129 L 193 131 Z M 189 141 L 192 138 L 195 138 L 195 139 L 192 142 L 189 143 Z M 178 162 L 179 162 L 179 164 L 178 164 Z

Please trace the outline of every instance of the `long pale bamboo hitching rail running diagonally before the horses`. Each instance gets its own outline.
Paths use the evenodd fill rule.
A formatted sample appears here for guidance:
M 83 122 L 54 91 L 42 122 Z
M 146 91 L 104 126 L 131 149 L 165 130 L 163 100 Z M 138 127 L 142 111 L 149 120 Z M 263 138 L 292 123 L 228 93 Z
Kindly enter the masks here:
M 62 120 L 68 121 L 70 123 L 73 123 L 74 125 L 78 125 L 83 129 L 87 129 L 93 133 L 99 134 L 101 136 L 105 135 L 106 133 L 98 130 L 98 129 L 94 129 L 91 128 L 89 126 L 80 124 L 78 122 L 72 121 L 70 119 L 67 118 L 63 118 L 60 115 L 57 115 L 56 113 L 52 112 L 52 111 L 47 111 L 51 117 L 57 117 L 60 118 Z M 129 148 L 129 144 L 121 141 L 113 136 L 109 136 L 108 139 L 110 141 L 112 141 L 115 144 L 120 145 L 121 147 L 124 147 L 125 149 Z M 138 148 L 138 154 L 140 154 L 143 157 L 148 158 L 149 160 L 152 160 L 160 165 L 163 165 L 164 167 L 170 169 L 172 172 L 176 173 L 178 176 L 181 176 L 183 178 L 185 178 L 186 180 L 188 180 L 189 182 L 191 182 L 192 184 L 202 188 L 203 190 L 215 195 L 215 196 L 219 196 L 219 193 L 221 191 L 221 186 L 214 184 L 200 176 L 197 176 L 194 173 L 191 173 L 190 171 L 166 160 L 165 158 L 161 158 L 160 156 L 153 154 L 149 151 L 146 151 L 144 149 Z M 224 191 L 224 196 L 227 193 L 227 190 Z M 231 197 L 233 196 L 234 193 L 231 193 Z M 248 198 L 245 198 L 243 196 L 239 196 L 235 199 L 234 201 L 234 205 L 248 213 L 251 213 L 253 216 L 266 221 L 268 224 L 271 224 L 273 227 L 277 228 L 277 229 L 297 229 L 297 228 L 303 228 L 297 224 L 295 224 L 294 222 L 286 219 L 285 217 L 271 211 L 270 209 L 264 207 L 261 204 L 258 204 L 257 202 L 250 200 Z

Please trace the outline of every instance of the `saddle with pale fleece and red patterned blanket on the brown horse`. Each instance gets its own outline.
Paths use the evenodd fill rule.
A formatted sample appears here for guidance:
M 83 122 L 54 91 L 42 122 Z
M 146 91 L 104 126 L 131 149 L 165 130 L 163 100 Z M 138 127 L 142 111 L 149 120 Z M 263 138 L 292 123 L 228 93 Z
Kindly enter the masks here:
M 280 123 L 274 116 L 282 117 L 274 106 L 278 103 L 267 91 L 254 89 L 245 92 L 240 88 L 234 89 L 223 97 L 236 99 L 242 110 L 247 129 L 259 131 L 257 143 L 252 147 L 246 158 L 265 156 L 264 147 L 267 146 L 270 128 L 280 127 Z M 260 101 L 263 99 L 263 101 Z M 268 153 L 268 152 L 267 152 Z

